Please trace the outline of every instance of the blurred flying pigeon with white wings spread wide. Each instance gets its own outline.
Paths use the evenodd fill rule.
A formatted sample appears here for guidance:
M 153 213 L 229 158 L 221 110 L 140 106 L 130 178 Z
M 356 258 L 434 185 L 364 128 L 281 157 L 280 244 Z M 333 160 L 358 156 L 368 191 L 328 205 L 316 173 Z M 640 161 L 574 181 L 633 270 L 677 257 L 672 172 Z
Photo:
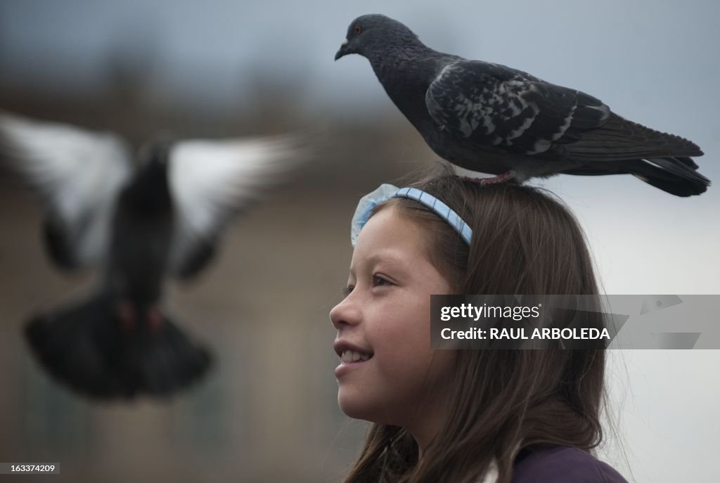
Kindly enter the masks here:
M 105 400 L 169 396 L 207 372 L 210 352 L 163 312 L 163 285 L 202 271 L 231 217 L 308 153 L 297 135 L 161 140 L 134 161 L 112 133 L 2 112 L 0 147 L 45 202 L 55 266 L 101 274 L 91 294 L 30 320 L 26 338 L 50 374 Z

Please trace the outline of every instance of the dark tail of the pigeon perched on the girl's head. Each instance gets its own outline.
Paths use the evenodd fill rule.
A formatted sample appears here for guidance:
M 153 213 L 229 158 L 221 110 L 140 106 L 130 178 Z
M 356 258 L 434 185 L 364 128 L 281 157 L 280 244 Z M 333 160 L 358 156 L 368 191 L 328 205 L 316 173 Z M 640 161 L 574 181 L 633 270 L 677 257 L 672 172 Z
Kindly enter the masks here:
M 629 173 L 678 197 L 704 193 L 710 180 L 692 167 L 695 163 L 688 164 L 687 161 L 688 158 L 672 157 L 643 159 L 634 163 Z

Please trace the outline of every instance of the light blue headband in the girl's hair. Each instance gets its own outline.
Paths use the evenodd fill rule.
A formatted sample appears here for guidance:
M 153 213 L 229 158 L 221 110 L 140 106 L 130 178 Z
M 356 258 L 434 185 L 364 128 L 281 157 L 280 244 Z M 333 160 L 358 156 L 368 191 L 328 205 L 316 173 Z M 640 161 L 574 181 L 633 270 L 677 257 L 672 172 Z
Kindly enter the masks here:
M 372 209 L 378 204 L 387 202 L 390 198 L 409 198 L 425 205 L 435 212 L 439 217 L 448 222 L 454 230 L 462 237 L 465 243 L 470 244 L 472 238 L 472 230 L 462 218 L 454 212 L 450 207 L 441 202 L 433 195 L 426 193 L 417 188 L 398 188 L 392 184 L 381 184 L 378 189 L 372 193 L 366 194 L 360 199 L 358 207 L 353 215 L 353 222 L 350 230 L 350 241 L 355 246 L 360 235 L 360 230 L 365 226 L 367 220 L 370 219 Z

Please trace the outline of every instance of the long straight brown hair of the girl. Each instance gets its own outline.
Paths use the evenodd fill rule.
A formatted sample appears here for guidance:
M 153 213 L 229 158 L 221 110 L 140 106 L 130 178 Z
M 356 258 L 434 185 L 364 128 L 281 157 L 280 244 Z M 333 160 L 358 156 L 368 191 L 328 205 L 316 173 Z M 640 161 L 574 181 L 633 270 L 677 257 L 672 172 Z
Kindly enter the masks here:
M 423 227 L 431 262 L 457 294 L 598 294 L 585 235 L 548 192 L 450 174 L 413 186 L 468 223 L 471 245 L 413 200 L 376 212 L 392 205 Z M 404 428 L 376 423 L 346 483 L 475 482 L 491 461 L 508 483 L 518 445 L 590 451 L 602 439 L 604 372 L 601 350 L 457 351 L 451 409 L 423 458 Z

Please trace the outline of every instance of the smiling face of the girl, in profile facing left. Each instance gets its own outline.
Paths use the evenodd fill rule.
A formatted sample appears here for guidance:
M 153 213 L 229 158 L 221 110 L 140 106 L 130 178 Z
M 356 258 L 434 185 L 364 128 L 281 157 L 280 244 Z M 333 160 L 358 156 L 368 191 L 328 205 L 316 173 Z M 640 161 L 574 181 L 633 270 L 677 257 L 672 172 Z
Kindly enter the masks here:
M 338 330 L 338 402 L 350 417 L 408 428 L 443 407 L 454 351 L 430 348 L 430 295 L 451 286 L 428 261 L 420 227 L 386 207 L 363 227 Z

